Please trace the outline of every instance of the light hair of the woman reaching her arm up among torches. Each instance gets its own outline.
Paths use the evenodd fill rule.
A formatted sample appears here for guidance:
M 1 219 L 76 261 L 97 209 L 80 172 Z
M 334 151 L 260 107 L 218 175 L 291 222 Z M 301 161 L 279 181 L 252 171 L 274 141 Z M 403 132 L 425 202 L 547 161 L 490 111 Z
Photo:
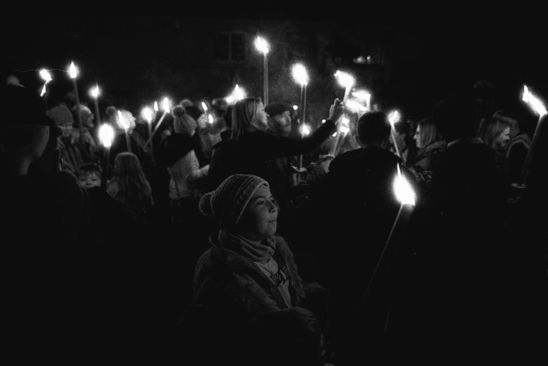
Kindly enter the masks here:
M 262 101 L 258 98 L 244 98 L 237 101 L 232 107 L 230 139 L 238 140 L 245 132 L 259 130 L 263 109 Z

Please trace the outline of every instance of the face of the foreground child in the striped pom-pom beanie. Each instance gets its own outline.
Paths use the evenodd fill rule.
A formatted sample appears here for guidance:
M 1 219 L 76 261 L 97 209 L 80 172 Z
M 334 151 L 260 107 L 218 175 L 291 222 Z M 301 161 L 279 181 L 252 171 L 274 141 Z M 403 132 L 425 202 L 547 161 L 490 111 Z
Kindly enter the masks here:
M 276 233 L 278 207 L 270 188 L 262 185 L 253 193 L 238 222 L 240 234 L 262 240 Z

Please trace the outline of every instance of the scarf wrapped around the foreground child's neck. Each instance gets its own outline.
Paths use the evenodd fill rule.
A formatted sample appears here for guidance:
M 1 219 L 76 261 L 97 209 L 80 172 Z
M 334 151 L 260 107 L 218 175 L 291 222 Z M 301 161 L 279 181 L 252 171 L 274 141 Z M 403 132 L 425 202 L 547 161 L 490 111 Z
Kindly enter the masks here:
M 276 239 L 274 236 L 270 236 L 258 243 L 225 230 L 219 231 L 219 243 L 221 243 L 223 247 L 234 250 L 234 252 L 253 260 L 253 262 L 260 263 L 268 261 L 272 257 L 276 247 Z

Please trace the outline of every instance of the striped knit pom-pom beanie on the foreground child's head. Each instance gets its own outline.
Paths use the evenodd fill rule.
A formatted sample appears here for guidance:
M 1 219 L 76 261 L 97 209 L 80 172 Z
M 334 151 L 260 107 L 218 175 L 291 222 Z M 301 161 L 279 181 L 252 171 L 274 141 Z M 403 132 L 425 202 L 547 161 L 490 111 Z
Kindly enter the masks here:
M 230 230 L 236 227 L 251 196 L 262 184 L 269 186 L 256 175 L 230 175 L 215 191 L 201 197 L 199 208 L 203 215 L 219 220 L 221 229 Z

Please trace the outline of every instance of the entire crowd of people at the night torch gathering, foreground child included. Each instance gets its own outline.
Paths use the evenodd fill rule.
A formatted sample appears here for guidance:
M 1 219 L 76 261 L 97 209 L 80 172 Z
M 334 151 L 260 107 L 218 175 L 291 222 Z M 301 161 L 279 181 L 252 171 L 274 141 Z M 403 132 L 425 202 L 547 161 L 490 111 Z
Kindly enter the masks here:
M 530 151 L 519 117 L 473 87 L 395 125 L 335 99 L 306 136 L 289 103 L 254 97 L 211 114 L 185 98 L 150 130 L 115 106 L 47 107 L 15 77 L 1 101 L 22 362 L 547 361 L 547 133 Z M 399 174 L 416 197 L 388 245 Z

